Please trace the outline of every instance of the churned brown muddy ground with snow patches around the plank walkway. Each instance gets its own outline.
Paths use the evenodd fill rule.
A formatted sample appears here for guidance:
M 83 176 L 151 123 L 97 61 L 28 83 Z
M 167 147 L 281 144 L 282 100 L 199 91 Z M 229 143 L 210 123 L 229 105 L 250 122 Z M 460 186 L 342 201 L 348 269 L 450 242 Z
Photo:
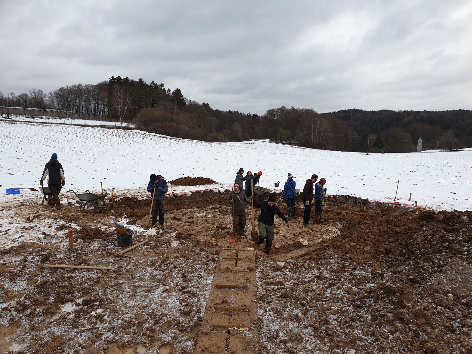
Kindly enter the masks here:
M 100 214 L 79 211 L 74 199 L 61 210 L 39 197 L 2 201 L 0 353 L 194 353 L 218 253 L 235 247 L 228 193 L 172 196 L 164 228 L 149 230 L 135 226 L 149 213 L 146 198 L 118 199 Z M 241 249 L 257 249 L 250 211 Z M 472 353 L 471 211 L 333 195 L 323 224 L 303 226 L 298 199 L 296 212 L 290 228 L 276 217 L 270 255 L 255 257 L 247 350 Z M 101 224 L 112 217 L 135 229 L 132 244 L 150 241 L 130 257 L 107 254 L 122 250 Z M 111 270 L 32 275 L 46 255 Z M 230 348 L 223 353 L 247 352 Z

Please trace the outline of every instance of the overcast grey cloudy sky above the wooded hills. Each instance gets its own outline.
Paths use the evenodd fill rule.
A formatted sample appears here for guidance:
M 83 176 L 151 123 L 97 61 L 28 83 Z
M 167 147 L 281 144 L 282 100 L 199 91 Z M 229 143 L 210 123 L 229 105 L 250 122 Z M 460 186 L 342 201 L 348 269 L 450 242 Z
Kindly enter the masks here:
M 0 91 L 142 77 L 263 114 L 472 109 L 472 2 L 0 0 Z

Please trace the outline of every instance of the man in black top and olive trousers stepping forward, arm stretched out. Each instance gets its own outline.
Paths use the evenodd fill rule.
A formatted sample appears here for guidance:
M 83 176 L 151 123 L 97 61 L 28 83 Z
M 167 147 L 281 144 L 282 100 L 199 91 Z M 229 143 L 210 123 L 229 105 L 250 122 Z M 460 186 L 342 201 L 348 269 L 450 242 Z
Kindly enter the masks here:
M 251 196 L 253 198 L 253 196 Z M 274 241 L 274 215 L 277 214 L 290 227 L 290 223 L 285 215 L 275 205 L 275 196 L 270 194 L 267 202 L 254 202 L 255 208 L 261 208 L 261 215 L 258 219 L 259 237 L 258 244 L 262 244 L 266 240 L 265 252 L 269 253 Z

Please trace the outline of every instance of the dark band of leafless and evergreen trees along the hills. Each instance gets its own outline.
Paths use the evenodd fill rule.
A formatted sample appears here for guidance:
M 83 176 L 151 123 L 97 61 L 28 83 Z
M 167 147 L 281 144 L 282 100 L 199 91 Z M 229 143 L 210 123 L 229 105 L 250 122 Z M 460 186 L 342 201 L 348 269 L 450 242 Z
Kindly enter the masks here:
M 192 101 L 176 88 L 155 81 L 111 76 L 98 84 L 73 84 L 49 93 L 0 91 L 0 106 L 72 112 L 89 119 L 132 122 L 139 129 L 209 142 L 270 139 L 309 148 L 352 152 L 412 152 L 421 137 L 423 149 L 454 150 L 472 146 L 472 112 L 340 110 L 311 108 L 267 110 L 263 115 L 217 110 Z M 2 111 L 3 112 L 3 111 Z

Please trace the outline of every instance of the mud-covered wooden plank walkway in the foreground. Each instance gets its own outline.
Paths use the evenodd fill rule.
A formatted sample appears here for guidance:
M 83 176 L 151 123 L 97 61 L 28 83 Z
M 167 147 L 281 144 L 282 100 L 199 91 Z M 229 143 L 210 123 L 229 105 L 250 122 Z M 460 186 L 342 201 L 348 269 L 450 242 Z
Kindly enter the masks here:
M 219 251 L 195 354 L 257 353 L 256 251 Z

